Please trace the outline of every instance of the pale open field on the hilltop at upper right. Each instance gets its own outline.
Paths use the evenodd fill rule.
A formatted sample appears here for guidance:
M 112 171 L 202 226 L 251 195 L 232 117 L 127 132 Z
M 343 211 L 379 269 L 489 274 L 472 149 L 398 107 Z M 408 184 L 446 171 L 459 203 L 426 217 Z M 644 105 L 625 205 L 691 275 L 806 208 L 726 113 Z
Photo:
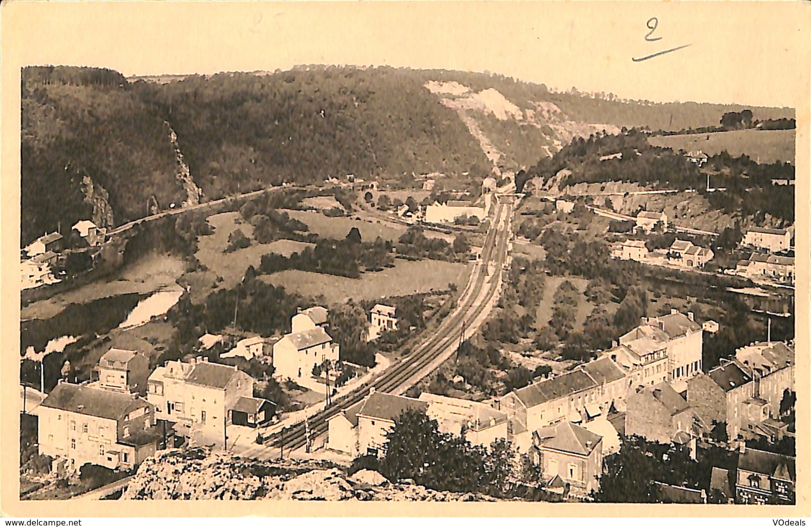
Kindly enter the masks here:
M 761 163 L 794 163 L 794 130 L 737 130 L 712 134 L 661 135 L 648 139 L 657 147 L 701 150 L 713 156 L 726 150 L 732 156 L 746 154 Z M 709 138 L 709 139 L 707 139 Z

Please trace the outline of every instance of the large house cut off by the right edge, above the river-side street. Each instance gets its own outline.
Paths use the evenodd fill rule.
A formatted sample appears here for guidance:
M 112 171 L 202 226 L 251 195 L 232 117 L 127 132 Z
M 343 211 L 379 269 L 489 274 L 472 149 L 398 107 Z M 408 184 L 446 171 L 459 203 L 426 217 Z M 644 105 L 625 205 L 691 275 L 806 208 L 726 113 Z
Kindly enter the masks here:
M 783 392 L 794 392 L 794 346 L 783 342 L 754 342 L 736 349 L 735 358 L 754 382 L 754 396 L 767 403 L 770 418 L 780 417 Z

